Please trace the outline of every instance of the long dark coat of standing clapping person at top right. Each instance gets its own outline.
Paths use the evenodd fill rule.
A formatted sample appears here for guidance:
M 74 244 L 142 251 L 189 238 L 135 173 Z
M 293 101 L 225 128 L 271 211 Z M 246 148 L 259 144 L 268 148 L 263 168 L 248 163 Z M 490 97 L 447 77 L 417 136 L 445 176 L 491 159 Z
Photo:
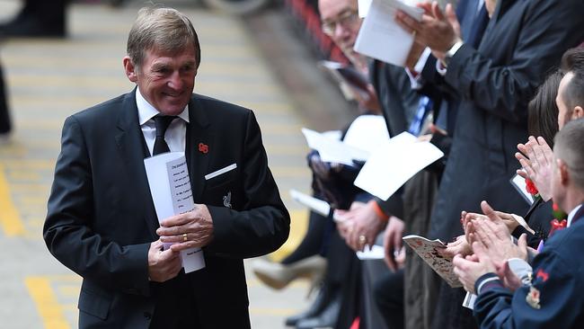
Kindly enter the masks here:
M 478 49 L 463 45 L 445 81 L 461 95 L 454 141 L 440 183 L 430 236 L 462 234 L 461 210 L 525 213 L 509 179 L 526 133 L 526 104 L 562 53 L 584 38 L 582 0 L 500 0 Z

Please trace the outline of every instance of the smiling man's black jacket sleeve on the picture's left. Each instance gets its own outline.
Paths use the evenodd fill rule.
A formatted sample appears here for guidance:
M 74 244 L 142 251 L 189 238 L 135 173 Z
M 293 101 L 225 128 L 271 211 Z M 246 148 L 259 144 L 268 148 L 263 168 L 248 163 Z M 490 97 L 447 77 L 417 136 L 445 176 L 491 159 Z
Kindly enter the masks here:
M 93 177 L 82 127 L 65 121 L 43 235 L 50 253 L 103 287 L 147 295 L 150 244 L 119 245 L 93 232 Z

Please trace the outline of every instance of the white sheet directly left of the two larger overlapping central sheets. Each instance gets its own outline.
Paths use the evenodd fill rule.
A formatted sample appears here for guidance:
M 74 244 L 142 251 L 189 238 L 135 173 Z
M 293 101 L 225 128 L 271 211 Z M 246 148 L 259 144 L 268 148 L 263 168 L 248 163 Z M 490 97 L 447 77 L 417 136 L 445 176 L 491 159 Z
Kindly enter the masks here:
M 311 129 L 302 129 L 308 147 L 318 151 L 323 162 L 354 165 L 353 159 L 365 160 L 368 153 Z

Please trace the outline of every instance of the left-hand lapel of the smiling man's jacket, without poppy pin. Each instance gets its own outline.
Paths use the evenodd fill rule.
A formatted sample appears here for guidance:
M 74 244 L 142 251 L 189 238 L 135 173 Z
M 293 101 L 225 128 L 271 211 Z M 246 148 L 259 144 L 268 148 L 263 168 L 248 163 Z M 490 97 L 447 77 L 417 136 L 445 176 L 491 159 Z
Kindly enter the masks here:
M 124 99 L 119 111 L 118 131 L 115 138 L 125 173 L 129 177 L 128 189 L 136 192 L 136 204 L 144 205 L 144 207 L 137 207 L 137 210 L 143 211 L 148 231 L 154 239 L 158 239 L 155 231 L 159 224 L 144 167 L 145 142 L 137 119 L 136 89 L 133 93 L 128 93 Z

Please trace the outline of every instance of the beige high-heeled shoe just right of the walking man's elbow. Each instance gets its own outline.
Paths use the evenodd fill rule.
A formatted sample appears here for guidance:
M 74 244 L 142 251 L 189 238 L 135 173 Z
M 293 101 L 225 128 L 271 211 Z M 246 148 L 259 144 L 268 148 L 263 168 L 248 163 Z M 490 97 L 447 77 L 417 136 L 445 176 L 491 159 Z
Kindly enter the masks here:
M 326 260 L 314 255 L 291 264 L 282 264 L 261 258 L 252 263 L 252 268 L 258 279 L 272 289 L 282 289 L 297 278 L 309 278 L 315 286 L 316 282 L 323 280 Z

